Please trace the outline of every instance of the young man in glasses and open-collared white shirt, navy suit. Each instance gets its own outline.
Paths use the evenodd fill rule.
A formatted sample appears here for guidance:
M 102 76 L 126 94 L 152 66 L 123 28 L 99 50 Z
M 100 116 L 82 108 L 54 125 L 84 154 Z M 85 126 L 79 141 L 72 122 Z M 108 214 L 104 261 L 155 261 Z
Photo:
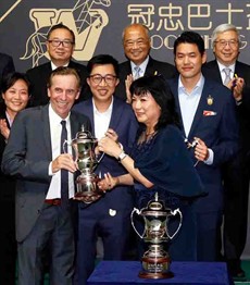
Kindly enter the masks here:
M 129 152 L 137 132 L 137 120 L 129 104 L 114 95 L 118 84 L 118 63 L 108 54 L 93 57 L 87 65 L 87 83 L 92 98 L 76 104 L 74 110 L 89 116 L 95 136 L 117 139 Z M 126 170 L 115 158 L 104 156 L 97 174 L 122 175 Z M 118 186 L 97 202 L 79 203 L 77 274 L 75 284 L 85 285 L 95 268 L 97 238 L 103 243 L 104 260 L 125 258 L 130 232 L 133 189 Z

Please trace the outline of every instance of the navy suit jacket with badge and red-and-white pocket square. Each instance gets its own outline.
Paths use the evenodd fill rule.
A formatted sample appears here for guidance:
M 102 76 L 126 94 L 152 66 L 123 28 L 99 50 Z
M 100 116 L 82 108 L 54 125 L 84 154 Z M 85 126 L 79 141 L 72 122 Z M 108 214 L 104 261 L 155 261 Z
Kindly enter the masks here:
M 178 78 L 170 79 L 168 84 L 175 96 L 176 110 L 182 119 L 178 100 Z M 210 100 L 208 100 L 209 98 Z M 182 132 L 185 138 L 186 135 L 183 121 Z M 212 149 L 214 152 L 212 165 L 199 162 L 196 166 L 205 191 L 209 193 L 208 196 L 195 202 L 196 210 L 199 212 L 222 210 L 223 187 L 221 165 L 237 153 L 238 124 L 236 120 L 235 102 L 228 88 L 207 78 L 188 135 L 188 140 L 192 141 L 193 137 L 201 138 L 208 148 Z M 190 151 L 190 156 L 195 164 L 196 159 L 192 151 Z

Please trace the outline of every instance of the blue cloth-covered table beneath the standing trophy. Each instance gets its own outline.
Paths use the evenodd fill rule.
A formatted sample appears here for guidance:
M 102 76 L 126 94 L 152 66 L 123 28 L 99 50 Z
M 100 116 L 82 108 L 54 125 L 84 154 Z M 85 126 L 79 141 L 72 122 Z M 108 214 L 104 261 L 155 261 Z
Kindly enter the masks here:
M 224 262 L 172 262 L 173 278 L 145 280 L 138 277 L 141 270 L 139 261 L 101 261 L 88 278 L 88 285 L 229 285 L 233 284 Z

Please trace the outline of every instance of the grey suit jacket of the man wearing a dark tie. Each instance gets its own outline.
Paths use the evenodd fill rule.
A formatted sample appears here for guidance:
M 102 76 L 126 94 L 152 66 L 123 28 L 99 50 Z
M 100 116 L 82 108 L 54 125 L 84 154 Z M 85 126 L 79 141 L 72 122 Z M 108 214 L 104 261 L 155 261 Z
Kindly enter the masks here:
M 89 120 L 71 112 L 71 132 L 75 137 L 84 124 L 90 129 Z M 35 225 L 48 193 L 52 161 L 48 106 L 21 111 L 12 125 L 3 152 L 2 171 L 14 175 L 16 182 L 16 238 L 25 239 Z

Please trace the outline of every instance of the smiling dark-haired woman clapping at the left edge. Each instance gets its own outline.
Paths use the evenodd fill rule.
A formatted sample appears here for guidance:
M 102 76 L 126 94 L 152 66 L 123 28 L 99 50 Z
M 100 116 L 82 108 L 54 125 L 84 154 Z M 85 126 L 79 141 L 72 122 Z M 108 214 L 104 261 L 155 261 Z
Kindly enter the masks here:
M 15 115 L 26 108 L 29 83 L 21 73 L 8 74 L 1 82 L 0 104 L 0 162 Z M 0 284 L 15 284 L 15 181 L 0 171 Z

